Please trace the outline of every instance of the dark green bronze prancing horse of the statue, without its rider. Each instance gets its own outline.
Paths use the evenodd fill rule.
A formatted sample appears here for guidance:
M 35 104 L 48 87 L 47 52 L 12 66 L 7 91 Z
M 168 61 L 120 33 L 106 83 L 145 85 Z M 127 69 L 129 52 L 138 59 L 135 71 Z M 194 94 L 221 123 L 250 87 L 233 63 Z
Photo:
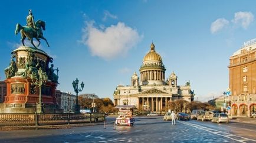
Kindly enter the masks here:
M 47 42 L 47 40 L 44 38 L 44 36 L 42 36 L 42 30 L 45 30 L 45 22 L 44 21 L 41 21 L 41 20 L 38 20 L 37 22 L 35 22 L 35 29 L 38 29 L 40 30 L 38 33 L 40 33 L 38 36 L 37 36 L 37 32 L 33 29 L 33 28 L 30 28 L 28 26 L 21 26 L 19 23 L 17 23 L 16 25 L 16 29 L 15 29 L 15 35 L 17 35 L 19 33 L 19 31 L 21 32 L 21 42 L 22 42 L 22 45 L 24 45 L 24 40 L 25 38 L 28 38 L 31 42 L 31 44 L 37 48 L 38 46 L 40 46 L 40 39 L 44 39 L 45 42 L 47 43 L 47 46 L 49 47 L 49 44 Z M 33 38 L 37 39 L 37 41 L 39 42 L 37 47 L 34 45 L 33 43 Z

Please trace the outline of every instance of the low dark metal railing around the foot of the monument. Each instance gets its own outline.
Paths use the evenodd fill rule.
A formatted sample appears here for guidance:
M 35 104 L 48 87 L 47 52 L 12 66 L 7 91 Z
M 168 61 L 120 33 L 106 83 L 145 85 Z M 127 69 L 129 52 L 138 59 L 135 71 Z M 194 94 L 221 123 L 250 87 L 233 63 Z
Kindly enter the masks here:
M 104 113 L 0 114 L 0 126 L 77 124 L 104 120 L 106 120 Z

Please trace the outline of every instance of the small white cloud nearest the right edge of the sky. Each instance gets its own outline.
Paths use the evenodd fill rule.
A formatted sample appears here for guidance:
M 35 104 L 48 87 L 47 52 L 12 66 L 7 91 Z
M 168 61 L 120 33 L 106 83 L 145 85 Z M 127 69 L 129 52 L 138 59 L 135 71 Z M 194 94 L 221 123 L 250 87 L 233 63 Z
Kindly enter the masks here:
M 232 20 L 236 24 L 241 24 L 244 29 L 247 29 L 252 21 L 254 21 L 254 15 L 251 12 L 236 12 Z

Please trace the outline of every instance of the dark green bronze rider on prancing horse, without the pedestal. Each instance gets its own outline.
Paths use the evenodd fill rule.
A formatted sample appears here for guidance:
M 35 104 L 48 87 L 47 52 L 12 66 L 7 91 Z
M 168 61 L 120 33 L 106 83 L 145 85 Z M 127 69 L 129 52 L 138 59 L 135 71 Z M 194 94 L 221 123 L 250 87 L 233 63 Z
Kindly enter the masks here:
M 32 10 L 28 10 L 28 16 L 27 16 L 27 25 L 26 26 L 21 26 L 19 23 L 16 25 L 15 29 L 15 35 L 17 35 L 19 32 L 21 32 L 21 42 L 22 45 L 24 45 L 24 40 L 25 38 L 28 38 L 31 42 L 31 44 L 37 48 L 40 46 L 40 39 L 44 39 L 45 42 L 47 43 L 47 46 L 49 47 L 49 44 L 47 40 L 44 38 L 42 34 L 42 30 L 45 30 L 45 22 L 38 20 L 34 22 L 34 16 L 32 15 Z M 37 47 L 33 43 L 33 38 L 37 39 L 38 45 Z

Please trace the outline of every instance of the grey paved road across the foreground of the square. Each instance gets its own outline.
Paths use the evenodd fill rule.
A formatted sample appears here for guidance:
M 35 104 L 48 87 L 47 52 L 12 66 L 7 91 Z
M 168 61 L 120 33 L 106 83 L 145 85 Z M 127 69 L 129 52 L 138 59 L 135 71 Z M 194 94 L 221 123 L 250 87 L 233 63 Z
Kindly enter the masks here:
M 162 117 L 135 117 L 133 127 L 104 125 L 58 130 L 0 131 L 0 142 L 256 142 L 256 125 L 244 122 L 217 124 L 177 121 L 172 126 Z

